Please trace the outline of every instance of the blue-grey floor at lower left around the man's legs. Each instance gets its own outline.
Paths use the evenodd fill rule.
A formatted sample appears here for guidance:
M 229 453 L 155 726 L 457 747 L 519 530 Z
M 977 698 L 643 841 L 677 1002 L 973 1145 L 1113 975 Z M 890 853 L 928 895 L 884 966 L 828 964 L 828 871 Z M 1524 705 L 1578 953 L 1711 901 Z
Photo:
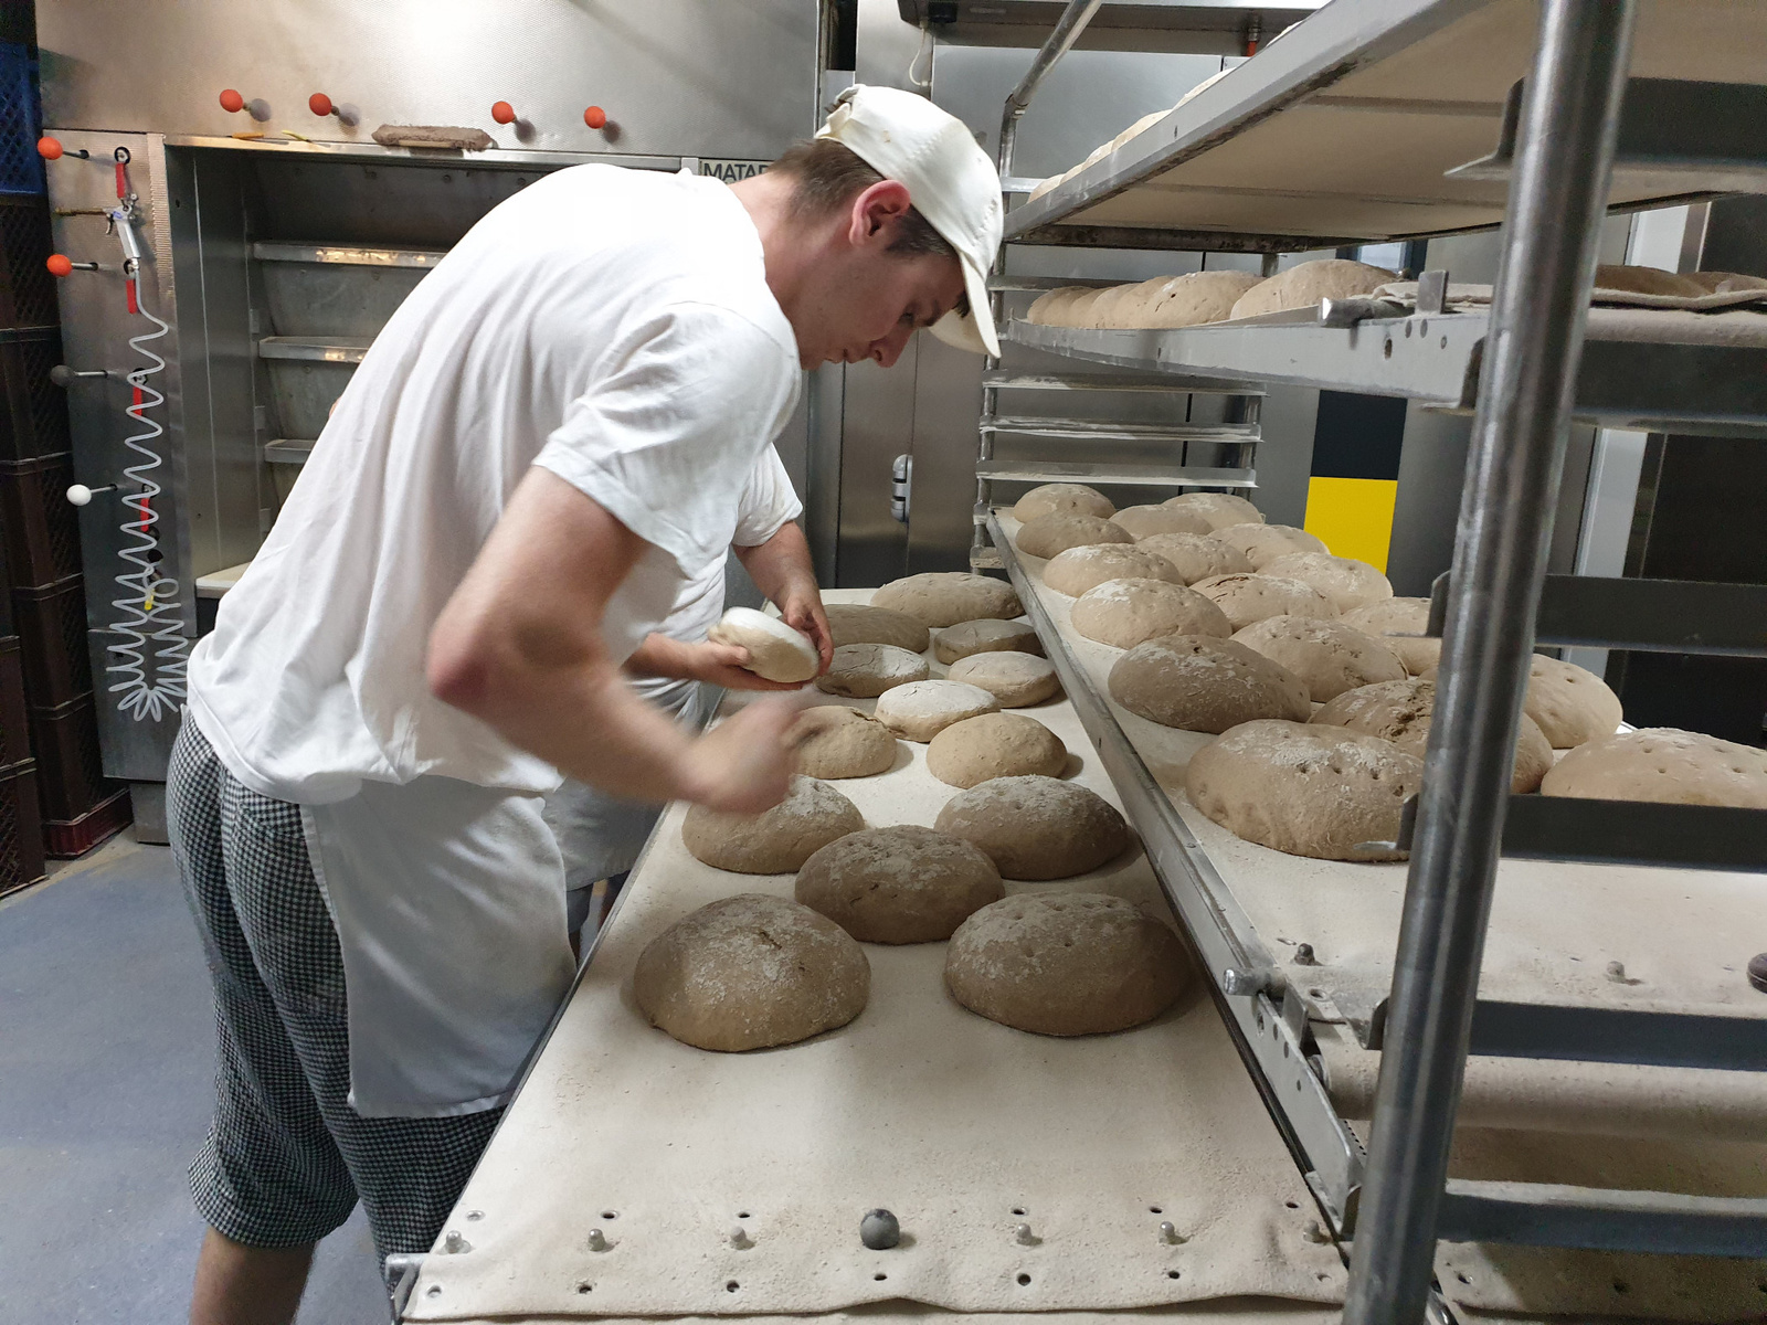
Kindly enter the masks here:
M 0 901 L 0 1325 L 180 1325 L 214 1009 L 171 853 L 113 839 Z M 360 1207 L 299 1325 L 383 1325 Z

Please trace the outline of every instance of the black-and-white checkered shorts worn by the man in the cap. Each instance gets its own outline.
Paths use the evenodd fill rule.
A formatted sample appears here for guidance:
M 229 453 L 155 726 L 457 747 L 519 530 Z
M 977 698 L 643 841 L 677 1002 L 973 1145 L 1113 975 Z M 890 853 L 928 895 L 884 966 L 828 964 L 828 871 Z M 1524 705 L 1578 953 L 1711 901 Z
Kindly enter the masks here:
M 171 852 L 216 989 L 219 1062 L 196 1208 L 251 1247 L 293 1247 L 368 1208 L 375 1249 L 428 1251 L 502 1109 L 362 1118 L 348 1104 L 343 954 L 300 807 L 242 786 L 186 717 L 166 781 Z

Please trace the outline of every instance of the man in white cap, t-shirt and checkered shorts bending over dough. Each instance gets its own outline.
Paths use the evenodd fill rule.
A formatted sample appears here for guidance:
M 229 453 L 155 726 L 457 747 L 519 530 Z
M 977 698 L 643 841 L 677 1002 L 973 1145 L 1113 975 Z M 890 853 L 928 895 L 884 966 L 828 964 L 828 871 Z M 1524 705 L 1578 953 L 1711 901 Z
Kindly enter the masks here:
M 219 1025 L 193 1321 L 292 1320 L 359 1198 L 382 1258 L 435 1242 L 573 973 L 560 774 L 785 795 L 786 703 L 693 735 L 620 664 L 724 556 L 800 367 L 889 366 L 917 327 L 997 352 L 998 240 L 968 129 L 859 87 L 735 186 L 557 171 L 389 320 L 191 654 L 168 816 Z

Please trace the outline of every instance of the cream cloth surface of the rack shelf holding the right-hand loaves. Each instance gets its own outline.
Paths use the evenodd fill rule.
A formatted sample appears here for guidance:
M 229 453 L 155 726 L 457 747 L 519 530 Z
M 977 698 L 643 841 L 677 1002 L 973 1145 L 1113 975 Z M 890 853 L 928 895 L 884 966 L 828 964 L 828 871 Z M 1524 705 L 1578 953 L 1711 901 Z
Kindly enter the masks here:
M 1011 535 L 1018 521 L 998 514 Z M 1334 988 L 1354 989 L 1361 1000 L 1380 996 L 1392 982 L 1405 864 L 1285 855 L 1242 841 L 1202 814 L 1184 795 L 1184 768 L 1214 737 L 1149 723 L 1111 700 L 1110 668 L 1122 650 L 1074 632 L 1073 599 L 1043 585 L 1041 558 L 1018 556 L 1074 657 L 1265 943 L 1283 961 L 1297 943 L 1313 945 L 1320 965 L 1290 965 L 1293 984 L 1320 989 L 1315 998 L 1322 1000 Z M 1760 874 L 1505 859 L 1497 871 L 1479 993 L 1493 1000 L 1767 1018 L 1767 998 L 1746 977 L 1762 935 L 1767 880 Z M 1619 975 L 1610 973 L 1615 961 Z

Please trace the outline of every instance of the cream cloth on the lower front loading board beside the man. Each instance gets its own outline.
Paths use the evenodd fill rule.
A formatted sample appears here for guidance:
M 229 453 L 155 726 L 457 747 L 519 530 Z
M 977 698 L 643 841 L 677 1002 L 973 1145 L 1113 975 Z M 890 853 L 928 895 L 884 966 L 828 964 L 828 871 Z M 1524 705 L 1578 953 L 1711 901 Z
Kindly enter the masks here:
M 1021 712 L 1115 802 L 1066 700 Z M 871 825 L 931 823 L 956 791 L 924 761 L 901 742 L 892 772 L 836 786 Z M 1133 1032 L 1050 1039 L 958 1007 L 944 943 L 866 945 L 869 1005 L 815 1041 L 721 1055 L 652 1030 L 631 996 L 650 938 L 716 897 L 792 892 L 790 874 L 694 860 L 682 813 L 663 818 L 461 1196 L 449 1228 L 470 1251 L 426 1261 L 408 1320 L 1341 1302 L 1338 1253 L 1200 989 Z M 1166 915 L 1138 846 L 1078 880 L 1007 887 L 1106 890 Z M 903 1246 L 861 1246 L 871 1207 L 901 1217 Z M 1161 1238 L 1166 1221 L 1184 1242 Z M 610 1251 L 588 1249 L 592 1230 Z

